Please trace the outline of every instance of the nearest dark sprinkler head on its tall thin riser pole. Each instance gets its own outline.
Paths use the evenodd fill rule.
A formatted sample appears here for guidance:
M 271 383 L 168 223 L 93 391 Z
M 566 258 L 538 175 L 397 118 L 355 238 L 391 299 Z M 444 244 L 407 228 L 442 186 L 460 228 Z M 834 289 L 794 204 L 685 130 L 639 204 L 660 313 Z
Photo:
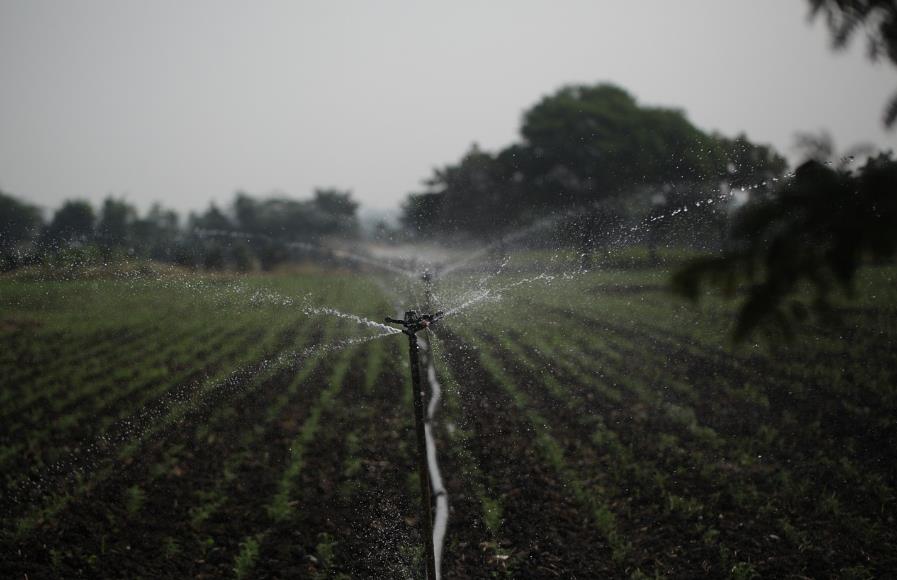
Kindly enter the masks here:
M 420 346 L 417 343 L 417 332 L 435 324 L 442 318 L 442 315 L 442 312 L 418 314 L 414 310 L 409 310 L 405 313 L 403 320 L 386 317 L 387 324 L 402 326 L 402 332 L 408 335 L 411 390 L 414 395 L 414 428 L 417 434 L 417 473 L 420 478 L 422 540 L 427 555 L 428 580 L 436 580 L 436 555 L 433 550 L 432 493 L 430 491 L 430 473 L 427 469 L 427 437 L 424 431 L 424 402 L 420 380 Z

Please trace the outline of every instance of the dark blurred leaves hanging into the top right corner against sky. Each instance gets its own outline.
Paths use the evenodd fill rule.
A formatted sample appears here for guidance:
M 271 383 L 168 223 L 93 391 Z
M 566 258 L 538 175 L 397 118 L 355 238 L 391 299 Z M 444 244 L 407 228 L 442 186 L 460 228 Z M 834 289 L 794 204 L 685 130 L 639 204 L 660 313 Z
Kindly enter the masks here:
M 872 60 L 887 59 L 897 65 L 897 2 L 894 0 L 809 0 L 812 17 L 824 16 L 837 49 L 847 46 L 854 34 L 866 35 Z M 897 93 L 885 106 L 884 124 L 897 121 Z

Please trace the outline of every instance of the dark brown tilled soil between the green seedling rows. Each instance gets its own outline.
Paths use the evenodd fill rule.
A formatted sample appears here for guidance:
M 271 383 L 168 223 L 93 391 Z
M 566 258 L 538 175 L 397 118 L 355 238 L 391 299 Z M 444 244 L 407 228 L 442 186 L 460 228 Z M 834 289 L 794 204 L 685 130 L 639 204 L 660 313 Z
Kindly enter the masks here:
M 445 424 L 439 425 L 451 504 L 443 578 L 624 578 L 636 570 L 670 578 L 750 577 L 751 570 L 767 577 L 824 578 L 843 570 L 887 577 L 897 567 L 894 504 L 877 503 L 872 488 L 855 488 L 849 470 L 837 464 L 848 457 L 894 488 L 893 462 L 886 462 L 897 431 L 887 409 L 845 410 L 824 389 L 791 392 L 792 377 L 781 369 L 688 348 L 684 335 L 579 323 L 600 323 L 603 332 L 625 339 L 614 346 L 622 361 L 577 343 L 591 357 L 587 366 L 601 369 L 594 382 L 585 382 L 529 348 L 527 357 L 563 385 L 565 398 L 547 392 L 540 376 L 512 353 L 500 347 L 494 353 L 546 420 L 576 485 L 612 511 L 628 544 L 625 557 L 614 561 L 574 482 L 545 460 L 535 426 L 485 372 L 477 351 L 446 329 L 440 343 L 460 386 L 452 396 L 459 398 L 457 426 L 469 434 L 469 445 L 454 448 Z M 524 342 L 513 334 L 510 339 Z M 88 470 L 88 476 L 102 473 L 96 483 L 82 486 L 57 474 L 56 483 L 76 492 L 73 499 L 21 537 L 4 525 L 0 576 L 233 577 L 242 543 L 254 538 L 253 578 L 420 578 L 406 344 L 402 336 L 384 340 L 391 341 L 387 361 L 371 389 L 364 388 L 366 352 L 352 355 L 338 398 L 320 416 L 303 455 L 287 519 L 273 520 L 268 506 L 338 353 L 323 360 L 272 421 L 270 403 L 290 384 L 289 371 L 250 391 L 235 388 L 220 405 L 186 417 L 110 471 Z M 692 385 L 698 396 L 666 389 L 656 373 L 640 368 L 642 349 L 662 353 L 671 361 L 666 376 Z M 595 388 L 624 375 L 662 395 L 646 402 L 621 389 L 612 400 Z M 769 404 L 733 395 L 718 377 L 756 385 Z M 862 394 L 857 400 L 867 407 L 871 401 Z M 672 421 L 659 412 L 664 405 L 692 410 L 697 425 L 712 428 L 718 441 Z M 866 413 L 868 428 L 839 421 L 841 411 Z M 821 422 L 827 428 L 793 428 Z M 599 426 L 618 438 L 627 463 L 592 439 Z M 777 429 L 777 438 L 761 444 L 761 427 Z M 91 425 L 75 431 L 75 437 L 93 433 Z M 740 466 L 736 455 L 747 451 L 767 459 Z M 467 456 L 476 469 L 469 469 Z M 142 496 L 136 507 L 128 495 L 134 489 Z M 502 506 L 495 534 L 486 528 L 480 493 Z M 819 504 L 827 495 L 845 503 L 824 512 Z M 671 497 L 694 500 L 696 507 L 673 509 Z M 198 518 L 197 510 L 210 505 L 209 517 Z M 20 516 L 28 506 L 2 507 L 4 516 Z M 736 568 L 739 563 L 750 568 Z

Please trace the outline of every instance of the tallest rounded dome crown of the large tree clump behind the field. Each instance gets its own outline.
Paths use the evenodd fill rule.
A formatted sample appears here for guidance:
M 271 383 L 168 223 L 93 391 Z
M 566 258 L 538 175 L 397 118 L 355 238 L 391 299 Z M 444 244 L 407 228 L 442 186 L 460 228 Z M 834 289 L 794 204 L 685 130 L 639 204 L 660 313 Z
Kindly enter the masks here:
M 609 85 L 568 86 L 524 114 L 525 168 L 549 198 L 590 202 L 636 185 L 706 180 L 726 169 L 725 150 L 682 111 L 639 105 Z

